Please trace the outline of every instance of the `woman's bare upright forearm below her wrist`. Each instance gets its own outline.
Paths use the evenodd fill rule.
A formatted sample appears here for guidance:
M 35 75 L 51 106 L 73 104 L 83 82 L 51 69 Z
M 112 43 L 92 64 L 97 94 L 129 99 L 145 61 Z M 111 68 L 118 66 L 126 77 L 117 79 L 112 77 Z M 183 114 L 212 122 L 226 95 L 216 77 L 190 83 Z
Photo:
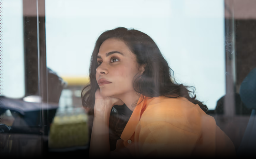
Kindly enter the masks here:
M 95 102 L 89 154 L 91 158 L 106 157 L 110 153 L 109 115 L 111 109 L 109 107 L 109 103 Z

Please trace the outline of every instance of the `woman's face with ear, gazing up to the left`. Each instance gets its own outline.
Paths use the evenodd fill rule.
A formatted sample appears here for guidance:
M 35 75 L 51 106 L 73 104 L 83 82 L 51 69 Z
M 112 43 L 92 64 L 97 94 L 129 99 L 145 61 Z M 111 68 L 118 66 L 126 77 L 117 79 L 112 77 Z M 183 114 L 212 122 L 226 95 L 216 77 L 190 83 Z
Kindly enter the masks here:
M 121 40 L 109 38 L 99 48 L 96 80 L 104 97 L 120 97 L 135 91 L 134 76 L 139 67 L 136 56 Z

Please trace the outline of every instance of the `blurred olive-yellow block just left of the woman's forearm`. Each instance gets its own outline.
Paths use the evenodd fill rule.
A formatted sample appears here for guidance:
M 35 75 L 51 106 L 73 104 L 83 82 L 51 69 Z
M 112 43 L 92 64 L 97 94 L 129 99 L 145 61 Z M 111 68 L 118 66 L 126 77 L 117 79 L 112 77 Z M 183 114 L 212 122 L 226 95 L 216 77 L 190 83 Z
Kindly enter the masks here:
M 83 109 L 56 114 L 50 125 L 49 148 L 86 146 L 89 142 L 88 117 Z

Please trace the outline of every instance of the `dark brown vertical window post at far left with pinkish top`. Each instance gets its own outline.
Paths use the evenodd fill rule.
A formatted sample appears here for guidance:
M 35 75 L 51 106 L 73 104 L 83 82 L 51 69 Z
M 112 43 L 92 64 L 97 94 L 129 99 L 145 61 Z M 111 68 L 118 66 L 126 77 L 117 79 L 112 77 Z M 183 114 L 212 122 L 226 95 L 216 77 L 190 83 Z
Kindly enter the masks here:
M 23 0 L 25 96 L 38 95 L 36 1 Z

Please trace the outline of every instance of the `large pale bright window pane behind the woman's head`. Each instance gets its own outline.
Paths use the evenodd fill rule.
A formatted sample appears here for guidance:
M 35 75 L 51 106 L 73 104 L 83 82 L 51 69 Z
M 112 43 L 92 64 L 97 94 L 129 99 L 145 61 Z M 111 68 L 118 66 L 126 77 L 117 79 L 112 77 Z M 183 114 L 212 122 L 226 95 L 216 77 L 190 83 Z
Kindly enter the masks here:
M 88 77 L 96 39 L 116 27 L 148 34 L 177 82 L 215 109 L 225 94 L 223 0 L 46 0 L 47 66 L 63 78 Z

